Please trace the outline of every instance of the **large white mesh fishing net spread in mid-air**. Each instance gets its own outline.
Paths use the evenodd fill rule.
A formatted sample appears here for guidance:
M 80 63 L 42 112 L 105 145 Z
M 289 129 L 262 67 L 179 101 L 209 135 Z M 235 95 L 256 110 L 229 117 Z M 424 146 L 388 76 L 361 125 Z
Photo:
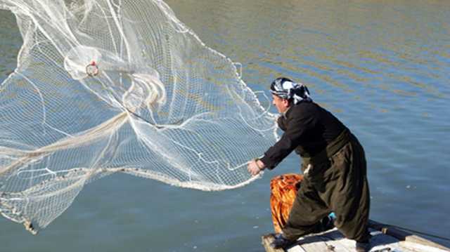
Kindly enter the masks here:
M 23 37 L 0 86 L 0 212 L 36 233 L 116 172 L 250 183 L 274 115 L 162 1 L 0 0 Z M 145 192 L 144 192 L 145 193 Z M 127 207 L 127 206 L 124 206 Z

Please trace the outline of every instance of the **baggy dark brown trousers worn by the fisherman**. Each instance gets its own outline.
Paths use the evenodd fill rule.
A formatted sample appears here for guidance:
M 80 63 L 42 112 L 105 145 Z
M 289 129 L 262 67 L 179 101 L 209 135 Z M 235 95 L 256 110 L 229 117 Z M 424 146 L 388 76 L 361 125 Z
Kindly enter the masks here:
M 307 165 L 302 164 L 302 170 Z M 297 239 L 320 232 L 319 221 L 333 211 L 335 227 L 345 237 L 368 239 L 370 195 L 366 170 L 364 149 L 354 135 L 326 161 L 311 164 L 283 228 L 285 237 Z

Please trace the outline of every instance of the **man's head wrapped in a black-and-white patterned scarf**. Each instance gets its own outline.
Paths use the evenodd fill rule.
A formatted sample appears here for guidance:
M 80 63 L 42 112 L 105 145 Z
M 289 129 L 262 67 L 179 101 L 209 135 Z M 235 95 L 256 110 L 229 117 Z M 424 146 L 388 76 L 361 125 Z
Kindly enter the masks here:
M 292 105 L 299 102 L 311 102 L 309 91 L 303 84 L 297 84 L 293 80 L 280 77 L 272 81 L 270 85 L 270 92 L 272 93 L 272 102 L 278 112 L 284 113 Z

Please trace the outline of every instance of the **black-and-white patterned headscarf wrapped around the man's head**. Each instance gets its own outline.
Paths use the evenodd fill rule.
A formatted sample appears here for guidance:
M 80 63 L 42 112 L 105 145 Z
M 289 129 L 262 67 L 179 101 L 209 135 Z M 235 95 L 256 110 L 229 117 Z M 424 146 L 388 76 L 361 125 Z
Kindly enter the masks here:
M 272 81 L 270 92 L 273 95 L 286 100 L 292 99 L 295 105 L 302 101 L 312 102 L 307 86 L 304 86 L 304 84 L 301 83 L 295 83 L 291 79 L 285 77 L 277 78 Z

